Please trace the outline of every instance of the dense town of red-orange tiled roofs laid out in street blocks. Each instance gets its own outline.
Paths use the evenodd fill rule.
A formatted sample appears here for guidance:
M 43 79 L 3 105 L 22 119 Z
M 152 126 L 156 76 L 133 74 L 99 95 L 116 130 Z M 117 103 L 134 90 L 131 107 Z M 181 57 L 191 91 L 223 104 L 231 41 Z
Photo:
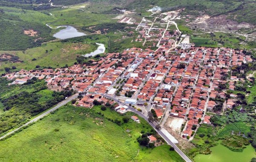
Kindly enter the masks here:
M 199 124 L 211 124 L 207 112 L 221 114 L 236 105 L 237 96 L 227 91 L 244 79 L 233 76 L 230 69 L 252 59 L 229 48 L 169 48 L 131 48 L 90 59 L 90 65 L 21 70 L 5 77 L 14 80 L 12 84 L 36 77 L 52 90 L 73 89 L 79 93 L 77 106 L 92 108 L 98 101 L 125 113 L 127 104 L 143 114 L 154 112 L 161 126 L 172 118 L 174 131 L 191 140 Z

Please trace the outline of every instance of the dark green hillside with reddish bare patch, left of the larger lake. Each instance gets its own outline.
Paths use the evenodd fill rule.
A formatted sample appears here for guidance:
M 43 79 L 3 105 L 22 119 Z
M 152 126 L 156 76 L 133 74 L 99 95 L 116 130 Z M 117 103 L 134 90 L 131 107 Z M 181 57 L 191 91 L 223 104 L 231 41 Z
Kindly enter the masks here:
M 0 7 L 0 50 L 23 50 L 40 46 L 42 42 L 53 40 L 51 29 L 45 22 L 54 20 L 42 12 Z M 37 34 L 29 36 L 24 30 L 34 29 Z

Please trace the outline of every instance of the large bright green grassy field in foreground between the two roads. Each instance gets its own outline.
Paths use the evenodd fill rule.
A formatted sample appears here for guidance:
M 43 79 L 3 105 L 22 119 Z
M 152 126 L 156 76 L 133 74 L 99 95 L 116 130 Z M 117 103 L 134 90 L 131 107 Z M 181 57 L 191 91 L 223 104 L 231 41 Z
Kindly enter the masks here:
M 182 162 L 169 146 L 141 148 L 136 140 L 151 127 L 129 121 L 121 126 L 94 109 L 64 106 L 37 123 L 0 141 L 0 160 L 6 161 L 156 161 Z M 108 112 L 113 118 L 116 112 Z M 115 115 L 115 116 L 114 116 Z M 128 114 L 131 116 L 132 114 Z M 126 132 L 129 128 L 130 132 Z M 139 153 L 138 153 L 139 152 Z M 11 156 L 12 155 L 12 156 Z M 164 155 L 164 156 L 163 156 Z

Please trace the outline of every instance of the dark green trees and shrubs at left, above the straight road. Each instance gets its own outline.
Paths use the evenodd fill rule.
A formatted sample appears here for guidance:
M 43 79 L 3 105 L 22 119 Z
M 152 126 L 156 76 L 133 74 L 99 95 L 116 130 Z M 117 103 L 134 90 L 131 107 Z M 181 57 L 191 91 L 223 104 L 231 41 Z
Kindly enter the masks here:
M 36 78 L 21 86 L 8 86 L 8 81 L 1 78 L 2 81 L 0 101 L 3 112 L 0 113 L 0 135 L 28 122 L 33 116 L 72 94 L 70 91 L 49 91 L 45 82 Z

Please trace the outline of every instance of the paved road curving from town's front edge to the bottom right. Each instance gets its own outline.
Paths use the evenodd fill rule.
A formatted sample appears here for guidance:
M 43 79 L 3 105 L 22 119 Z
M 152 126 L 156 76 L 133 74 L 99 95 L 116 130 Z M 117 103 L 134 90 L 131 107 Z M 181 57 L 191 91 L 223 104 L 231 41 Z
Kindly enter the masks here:
M 123 104 L 121 103 L 119 100 L 117 100 L 116 98 L 113 98 L 109 95 L 103 95 L 106 98 L 110 98 L 113 99 L 114 101 L 116 101 L 119 104 Z M 128 106 L 128 105 L 126 105 Z M 145 116 L 143 113 L 135 110 L 133 107 L 128 106 L 128 109 L 131 110 L 132 112 L 136 113 L 137 115 L 139 115 L 140 117 L 142 117 L 143 119 L 145 119 L 148 122 L 148 117 Z M 148 122 L 156 131 L 157 133 L 169 144 L 171 145 L 175 151 L 186 161 L 186 162 L 192 162 L 161 130 L 157 130 L 156 129 L 156 125 L 158 124 L 157 122 Z

